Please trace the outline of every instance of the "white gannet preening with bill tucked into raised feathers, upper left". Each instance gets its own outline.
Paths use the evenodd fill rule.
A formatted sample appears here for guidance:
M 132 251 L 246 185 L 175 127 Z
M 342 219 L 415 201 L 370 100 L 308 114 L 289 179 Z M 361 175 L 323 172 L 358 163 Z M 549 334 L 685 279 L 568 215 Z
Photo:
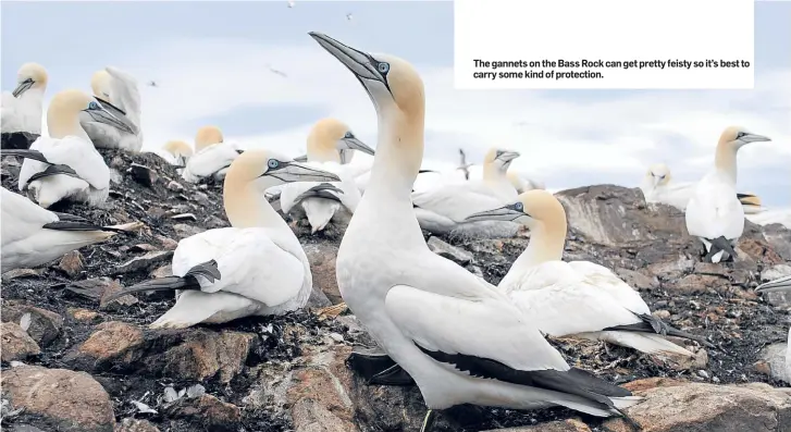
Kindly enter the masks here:
M 135 77 L 118 67 L 107 66 L 91 76 L 90 87 L 94 90 L 94 97 L 126 125 L 125 128 L 120 129 L 86 119 L 83 127 L 94 145 L 97 148 L 140 151 L 143 147 L 140 91 Z

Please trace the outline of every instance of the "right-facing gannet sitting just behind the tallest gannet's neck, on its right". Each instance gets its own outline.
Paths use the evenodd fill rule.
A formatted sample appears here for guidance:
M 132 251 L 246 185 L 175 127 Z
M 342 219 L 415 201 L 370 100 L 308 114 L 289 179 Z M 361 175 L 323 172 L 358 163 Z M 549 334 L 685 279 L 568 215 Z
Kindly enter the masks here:
M 506 172 L 516 151 L 492 148 L 483 163 L 483 178 L 456 184 L 440 184 L 412 194 L 415 214 L 423 230 L 434 234 L 450 232 L 477 236 L 510 236 L 518 225 L 511 222 L 465 222 L 465 218 L 491 210 L 517 198 L 517 190 Z

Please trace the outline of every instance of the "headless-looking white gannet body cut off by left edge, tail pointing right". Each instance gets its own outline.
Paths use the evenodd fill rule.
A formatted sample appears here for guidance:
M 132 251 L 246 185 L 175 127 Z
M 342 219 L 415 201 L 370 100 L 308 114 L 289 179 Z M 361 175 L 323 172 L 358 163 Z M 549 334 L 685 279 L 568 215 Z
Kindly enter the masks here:
M 3 273 L 46 264 L 74 249 L 143 226 L 140 222 L 99 226 L 79 217 L 45 210 L 4 187 L 0 199 Z

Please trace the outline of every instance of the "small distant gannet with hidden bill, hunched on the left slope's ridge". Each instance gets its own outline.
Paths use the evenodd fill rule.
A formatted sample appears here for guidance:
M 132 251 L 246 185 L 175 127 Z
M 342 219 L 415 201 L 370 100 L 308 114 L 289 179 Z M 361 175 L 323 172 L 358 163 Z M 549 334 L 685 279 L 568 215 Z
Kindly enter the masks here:
M 195 135 L 195 153 L 187 160 L 182 178 L 198 183 L 201 178 L 222 180 L 242 150 L 223 140 L 217 126 L 203 126 Z

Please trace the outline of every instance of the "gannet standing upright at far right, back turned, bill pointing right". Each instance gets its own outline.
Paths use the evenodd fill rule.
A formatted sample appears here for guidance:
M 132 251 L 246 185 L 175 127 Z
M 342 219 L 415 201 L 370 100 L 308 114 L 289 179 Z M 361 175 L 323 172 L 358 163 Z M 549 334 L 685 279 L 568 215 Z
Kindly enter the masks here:
M 736 256 L 744 231 L 744 209 L 737 197 L 737 152 L 750 143 L 768 141 L 738 127 L 728 127 L 717 144 L 714 169 L 701 180 L 687 205 L 687 231 L 703 242 L 704 261 L 719 262 Z

